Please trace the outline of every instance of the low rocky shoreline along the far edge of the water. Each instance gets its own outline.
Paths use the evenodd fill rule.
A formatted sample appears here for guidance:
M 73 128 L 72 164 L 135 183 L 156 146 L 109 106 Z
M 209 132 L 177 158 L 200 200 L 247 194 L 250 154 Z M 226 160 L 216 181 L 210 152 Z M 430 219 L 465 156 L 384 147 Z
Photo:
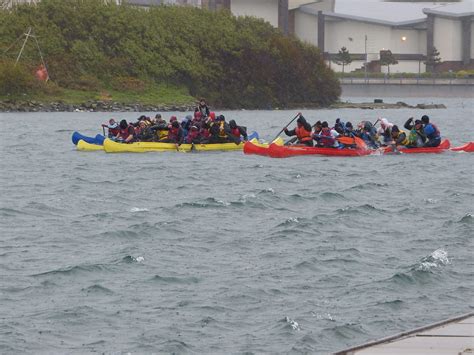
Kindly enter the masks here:
M 0 112 L 189 112 L 194 111 L 194 104 L 185 105 L 143 105 L 143 104 L 123 104 L 110 101 L 88 101 L 82 104 L 67 104 L 61 101 L 42 103 L 38 101 L 0 101 Z M 321 109 L 314 104 L 291 105 L 289 108 L 295 109 Z M 443 104 L 417 104 L 408 105 L 404 102 L 397 103 L 351 103 L 338 102 L 328 107 L 329 109 L 355 108 L 363 110 L 375 109 L 443 109 Z M 221 109 L 224 110 L 224 109 Z

